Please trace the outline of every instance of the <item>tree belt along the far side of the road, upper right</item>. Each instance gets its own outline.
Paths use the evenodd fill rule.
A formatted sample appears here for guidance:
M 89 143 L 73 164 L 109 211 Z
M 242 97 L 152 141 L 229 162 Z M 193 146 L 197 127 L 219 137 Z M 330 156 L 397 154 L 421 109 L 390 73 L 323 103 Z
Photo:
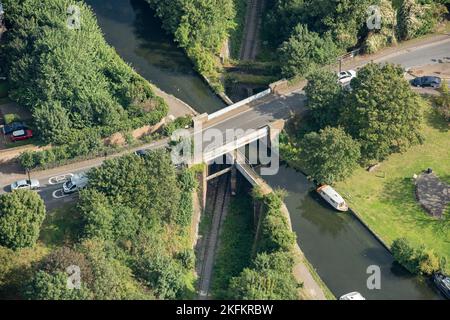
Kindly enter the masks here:
M 398 40 L 433 32 L 447 12 L 444 4 L 448 1 L 271 0 L 266 11 L 265 39 L 273 48 L 290 53 L 278 55 L 283 76 L 306 76 L 309 65 L 329 63 L 347 50 L 361 47 L 373 53 Z M 375 13 L 369 10 L 371 6 L 379 8 L 380 28 L 370 29 L 367 25 Z M 290 67 L 289 63 L 294 62 L 287 57 L 301 66 Z

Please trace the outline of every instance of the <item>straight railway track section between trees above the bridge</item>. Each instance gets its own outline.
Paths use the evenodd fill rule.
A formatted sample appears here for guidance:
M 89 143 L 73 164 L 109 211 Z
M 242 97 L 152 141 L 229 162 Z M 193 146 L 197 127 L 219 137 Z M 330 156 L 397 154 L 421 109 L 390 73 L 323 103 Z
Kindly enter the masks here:
M 240 60 L 255 60 L 258 53 L 258 33 L 261 27 L 264 0 L 248 0 L 244 37 L 241 44 Z

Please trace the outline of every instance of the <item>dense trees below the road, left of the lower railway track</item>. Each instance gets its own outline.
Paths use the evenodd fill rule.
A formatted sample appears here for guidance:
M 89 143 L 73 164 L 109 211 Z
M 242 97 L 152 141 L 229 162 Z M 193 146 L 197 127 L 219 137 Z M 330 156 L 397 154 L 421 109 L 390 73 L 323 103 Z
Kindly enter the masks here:
M 88 175 L 89 186 L 73 204 L 72 212 L 79 215 L 73 241 L 47 248 L 21 273 L 11 269 L 17 263 L 12 252 L 29 255 L 20 250 L 42 248 L 36 241 L 44 232 L 46 210 L 35 191 L 0 195 L 0 296 L 2 281 L 16 298 L 26 299 L 176 299 L 190 294 L 195 280 L 194 172 L 175 169 L 168 152 L 159 150 L 108 160 Z

